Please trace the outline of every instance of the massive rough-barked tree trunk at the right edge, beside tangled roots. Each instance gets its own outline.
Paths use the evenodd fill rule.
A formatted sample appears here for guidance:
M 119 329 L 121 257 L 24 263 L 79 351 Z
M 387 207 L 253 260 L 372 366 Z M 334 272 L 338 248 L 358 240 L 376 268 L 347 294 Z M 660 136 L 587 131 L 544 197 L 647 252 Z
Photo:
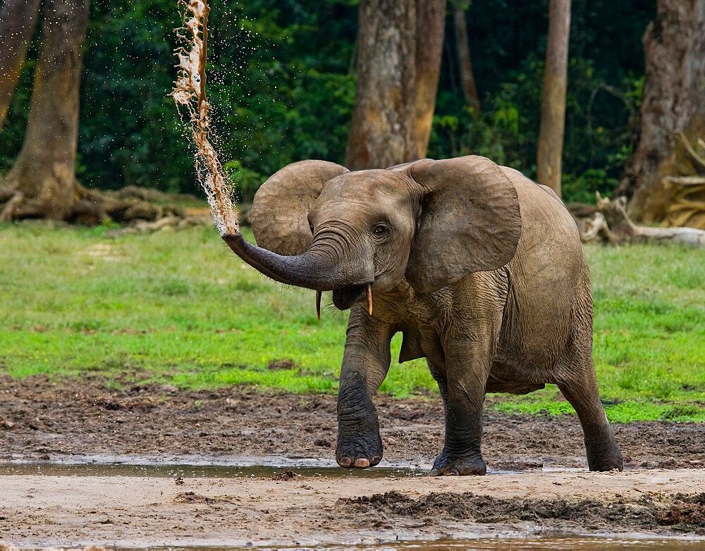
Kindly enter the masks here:
M 666 178 L 678 175 L 676 136 L 705 135 L 705 1 L 658 0 L 643 42 L 639 140 L 617 192 L 632 197 L 632 218 L 650 224 L 666 216 Z

